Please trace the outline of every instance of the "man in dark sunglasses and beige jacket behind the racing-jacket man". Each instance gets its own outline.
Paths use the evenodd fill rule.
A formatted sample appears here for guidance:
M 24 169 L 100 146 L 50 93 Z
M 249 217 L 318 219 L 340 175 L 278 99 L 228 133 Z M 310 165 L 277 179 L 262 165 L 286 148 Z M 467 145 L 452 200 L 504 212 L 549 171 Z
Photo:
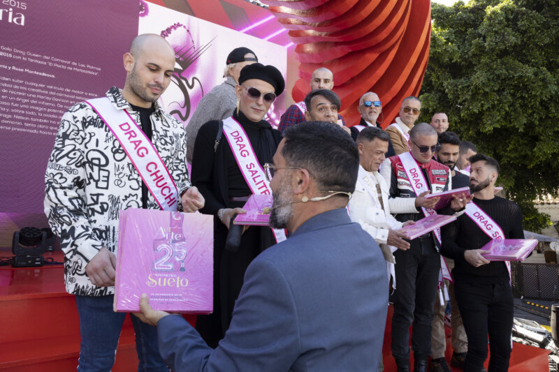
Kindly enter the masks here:
M 421 114 L 421 101 L 415 96 L 404 98 L 400 107 L 400 116 L 396 122 L 386 128 L 390 135 L 390 140 L 396 155 L 409 151 L 409 131 L 414 127 L 415 122 Z

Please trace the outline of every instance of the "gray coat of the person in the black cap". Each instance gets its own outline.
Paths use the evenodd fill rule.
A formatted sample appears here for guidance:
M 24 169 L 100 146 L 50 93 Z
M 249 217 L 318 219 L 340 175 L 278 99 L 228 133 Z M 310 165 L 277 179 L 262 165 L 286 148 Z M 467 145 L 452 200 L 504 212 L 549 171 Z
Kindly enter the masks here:
M 219 84 L 202 97 L 194 114 L 192 114 L 187 125 L 187 161 L 192 163 L 194 154 L 194 142 L 201 126 L 212 120 L 223 120 L 231 115 L 237 105 L 237 94 L 235 86 L 237 83 L 233 77 Z

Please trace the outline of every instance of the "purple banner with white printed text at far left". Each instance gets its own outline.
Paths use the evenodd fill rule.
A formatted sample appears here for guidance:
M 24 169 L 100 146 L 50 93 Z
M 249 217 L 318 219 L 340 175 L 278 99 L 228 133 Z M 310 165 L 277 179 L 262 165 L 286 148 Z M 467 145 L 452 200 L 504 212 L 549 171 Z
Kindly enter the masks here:
M 0 0 L 0 246 L 47 226 L 44 174 L 64 111 L 124 85 L 138 0 Z M 72 154 L 68 154 L 72 156 Z

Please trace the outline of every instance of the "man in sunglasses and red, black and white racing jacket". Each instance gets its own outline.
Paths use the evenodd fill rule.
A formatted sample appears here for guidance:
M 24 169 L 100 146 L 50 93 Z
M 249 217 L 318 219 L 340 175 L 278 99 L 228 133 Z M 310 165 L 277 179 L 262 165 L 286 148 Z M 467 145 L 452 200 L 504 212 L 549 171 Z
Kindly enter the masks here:
M 430 214 L 461 211 L 465 198 L 454 198 L 449 207 L 434 211 L 439 198 L 427 199 L 428 193 L 451 188 L 450 170 L 433 160 L 439 149 L 437 132 L 427 123 L 417 124 L 409 132 L 409 152 L 384 161 L 381 174 L 390 184 L 390 210 L 400 222 L 418 221 Z M 441 269 L 440 231 L 413 239 L 407 251 L 398 249 L 394 258 L 396 290 L 392 318 L 392 355 L 398 371 L 409 371 L 409 326 L 413 322 L 412 350 L 414 371 L 426 371 L 431 353 L 431 322 Z

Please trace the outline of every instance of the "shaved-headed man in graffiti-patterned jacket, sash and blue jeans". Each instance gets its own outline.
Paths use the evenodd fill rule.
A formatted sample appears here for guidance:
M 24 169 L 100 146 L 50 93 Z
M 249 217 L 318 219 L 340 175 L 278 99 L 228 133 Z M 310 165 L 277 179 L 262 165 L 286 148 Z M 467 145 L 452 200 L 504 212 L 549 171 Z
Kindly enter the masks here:
M 119 211 L 194 212 L 187 135 L 157 100 L 175 69 L 173 48 L 154 34 L 137 36 L 123 57 L 124 89 L 73 105 L 62 117 L 45 174 L 45 214 L 60 237 L 66 291 L 80 317 L 78 371 L 110 371 L 126 313 L 112 311 Z M 138 370 L 168 371 L 155 327 L 131 317 Z

